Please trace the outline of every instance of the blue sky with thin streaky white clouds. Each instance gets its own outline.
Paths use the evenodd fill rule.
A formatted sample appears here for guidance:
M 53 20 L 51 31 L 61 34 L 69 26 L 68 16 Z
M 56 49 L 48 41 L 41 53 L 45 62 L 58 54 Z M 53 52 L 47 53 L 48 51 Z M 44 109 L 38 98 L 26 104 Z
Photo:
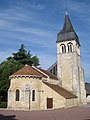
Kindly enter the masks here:
M 66 6 L 79 36 L 85 81 L 90 82 L 90 0 L 0 0 L 0 63 L 24 44 L 48 69 L 57 60 Z

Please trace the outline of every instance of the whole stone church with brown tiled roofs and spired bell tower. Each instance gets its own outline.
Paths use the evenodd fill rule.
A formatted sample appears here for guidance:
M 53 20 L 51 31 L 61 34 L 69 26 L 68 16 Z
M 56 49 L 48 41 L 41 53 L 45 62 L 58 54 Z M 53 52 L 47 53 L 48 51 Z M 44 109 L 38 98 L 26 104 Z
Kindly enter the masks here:
M 25 65 L 10 76 L 8 109 L 45 110 L 86 103 L 80 42 L 68 14 L 56 44 L 57 62 L 47 71 Z

